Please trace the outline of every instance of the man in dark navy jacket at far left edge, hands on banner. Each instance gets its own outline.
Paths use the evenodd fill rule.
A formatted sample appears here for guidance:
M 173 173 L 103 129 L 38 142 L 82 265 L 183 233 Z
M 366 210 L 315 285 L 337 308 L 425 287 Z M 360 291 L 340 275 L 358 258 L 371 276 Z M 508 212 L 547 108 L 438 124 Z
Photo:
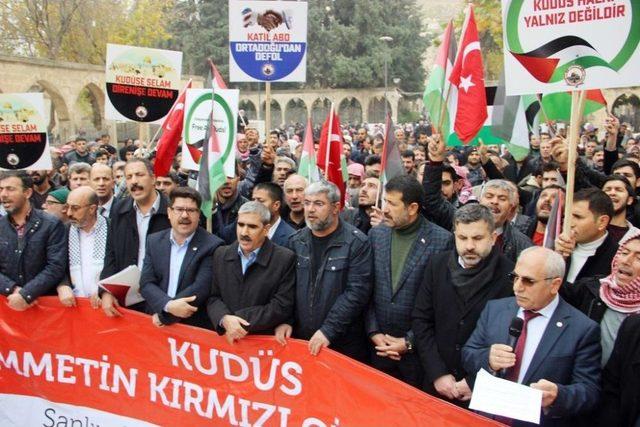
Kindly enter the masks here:
M 0 174 L 0 293 L 16 311 L 33 306 L 64 279 L 67 264 L 65 229 L 56 217 L 29 201 L 33 181 L 26 173 Z

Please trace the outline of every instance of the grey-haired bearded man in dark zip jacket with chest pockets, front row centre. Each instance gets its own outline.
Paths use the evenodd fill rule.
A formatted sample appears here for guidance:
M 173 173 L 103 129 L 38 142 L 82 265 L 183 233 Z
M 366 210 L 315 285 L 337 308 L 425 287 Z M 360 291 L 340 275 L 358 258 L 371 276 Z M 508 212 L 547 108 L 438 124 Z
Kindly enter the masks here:
M 340 219 L 340 198 L 331 182 L 314 182 L 304 192 L 307 228 L 289 239 L 298 256 L 295 321 L 278 326 L 276 339 L 284 344 L 293 333 L 309 340 L 314 356 L 330 347 L 365 361 L 371 246 L 364 233 Z

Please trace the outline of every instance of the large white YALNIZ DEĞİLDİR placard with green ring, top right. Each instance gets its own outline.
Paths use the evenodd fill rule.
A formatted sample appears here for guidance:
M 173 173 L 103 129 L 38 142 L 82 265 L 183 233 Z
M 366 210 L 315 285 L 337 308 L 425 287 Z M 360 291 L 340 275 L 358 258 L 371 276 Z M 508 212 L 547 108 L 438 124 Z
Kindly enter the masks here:
M 640 1 L 502 0 L 508 95 L 640 84 Z

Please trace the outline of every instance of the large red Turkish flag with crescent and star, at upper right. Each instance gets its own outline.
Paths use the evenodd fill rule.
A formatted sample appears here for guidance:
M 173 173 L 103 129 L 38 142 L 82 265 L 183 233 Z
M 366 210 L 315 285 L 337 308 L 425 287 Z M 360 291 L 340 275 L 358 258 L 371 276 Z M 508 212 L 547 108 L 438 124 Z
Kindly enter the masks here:
M 484 89 L 480 39 L 471 5 L 449 81 L 458 92 L 458 107 L 453 128 L 460 140 L 466 144 L 476 136 L 487 120 L 487 96 Z

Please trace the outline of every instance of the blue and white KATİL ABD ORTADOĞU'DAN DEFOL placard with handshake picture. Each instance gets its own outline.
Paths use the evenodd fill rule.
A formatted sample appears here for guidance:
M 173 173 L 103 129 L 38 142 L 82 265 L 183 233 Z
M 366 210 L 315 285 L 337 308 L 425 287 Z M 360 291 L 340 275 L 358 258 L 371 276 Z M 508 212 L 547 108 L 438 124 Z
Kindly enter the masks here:
M 229 1 L 232 82 L 305 82 L 307 3 Z

